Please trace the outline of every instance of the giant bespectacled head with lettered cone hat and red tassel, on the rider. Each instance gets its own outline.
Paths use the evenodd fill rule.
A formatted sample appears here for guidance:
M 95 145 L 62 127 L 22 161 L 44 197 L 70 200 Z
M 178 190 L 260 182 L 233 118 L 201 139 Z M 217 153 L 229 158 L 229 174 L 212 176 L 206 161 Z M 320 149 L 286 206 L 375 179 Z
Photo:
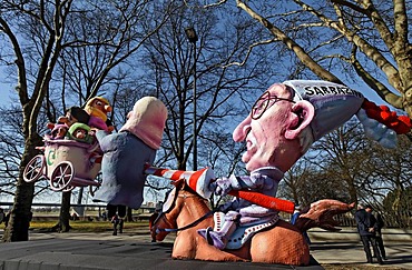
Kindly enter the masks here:
M 410 119 L 405 117 L 399 121 L 396 118 L 386 122 L 386 126 L 404 127 L 402 132 L 400 129 L 394 132 L 380 123 L 382 121 L 376 121 L 376 116 L 365 112 L 369 103 L 360 92 L 327 81 L 276 83 L 257 99 L 251 113 L 234 130 L 233 139 L 246 142 L 247 150 L 242 160 L 248 171 L 263 167 L 287 171 L 314 141 L 354 114 L 363 123 L 366 134 L 375 137 L 373 139 L 384 147 L 393 148 L 396 132 L 410 130 Z

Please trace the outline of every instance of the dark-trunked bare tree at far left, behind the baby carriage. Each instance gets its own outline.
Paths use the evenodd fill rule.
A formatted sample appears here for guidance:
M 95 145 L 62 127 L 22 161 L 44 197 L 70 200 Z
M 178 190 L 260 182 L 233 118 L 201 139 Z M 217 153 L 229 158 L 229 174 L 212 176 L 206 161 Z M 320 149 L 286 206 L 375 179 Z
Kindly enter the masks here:
M 28 240 L 35 188 L 23 181 L 22 172 L 29 160 L 39 153 L 36 147 L 42 144 L 38 122 L 42 106 L 52 121 L 60 109 L 52 97 L 61 98 L 63 109 L 65 97 L 70 92 L 81 93 L 76 104 L 98 94 L 105 83 L 115 78 L 110 77 L 115 69 L 119 70 L 143 41 L 161 27 L 171 10 L 165 6 L 163 16 L 153 18 L 150 3 L 126 0 L 1 1 L 0 9 L 0 33 L 7 41 L 0 59 L 14 67 L 10 73 L 17 70 L 16 89 L 22 108 L 24 139 L 14 204 L 3 241 L 23 241 Z M 147 27 L 145 20 L 155 20 L 154 28 Z M 63 76 L 52 80 L 61 56 L 76 61 L 66 62 L 66 66 L 60 61 Z

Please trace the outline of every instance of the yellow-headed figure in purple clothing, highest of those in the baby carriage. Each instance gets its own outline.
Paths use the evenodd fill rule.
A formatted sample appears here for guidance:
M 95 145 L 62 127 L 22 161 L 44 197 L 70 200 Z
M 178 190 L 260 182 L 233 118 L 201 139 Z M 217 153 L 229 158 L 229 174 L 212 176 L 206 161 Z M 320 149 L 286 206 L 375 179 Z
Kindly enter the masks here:
M 106 131 L 114 131 L 114 127 L 107 118 L 112 108 L 109 101 L 102 97 L 91 98 L 85 106 L 85 111 L 89 113 L 90 120 L 88 124 L 91 128 L 97 128 Z

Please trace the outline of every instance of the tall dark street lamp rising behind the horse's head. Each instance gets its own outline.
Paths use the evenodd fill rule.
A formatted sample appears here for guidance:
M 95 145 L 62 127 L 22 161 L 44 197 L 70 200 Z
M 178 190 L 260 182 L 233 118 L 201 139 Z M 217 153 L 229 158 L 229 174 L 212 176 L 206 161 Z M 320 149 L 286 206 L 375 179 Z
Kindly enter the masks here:
M 193 44 L 193 170 L 197 170 L 197 132 L 196 132 L 196 42 L 198 40 L 195 28 L 185 29 L 187 39 Z

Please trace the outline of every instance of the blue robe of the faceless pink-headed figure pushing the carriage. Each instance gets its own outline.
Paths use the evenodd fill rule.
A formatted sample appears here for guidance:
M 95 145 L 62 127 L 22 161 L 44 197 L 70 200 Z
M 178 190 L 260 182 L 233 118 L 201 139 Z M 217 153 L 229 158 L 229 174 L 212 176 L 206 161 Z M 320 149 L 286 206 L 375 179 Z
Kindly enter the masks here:
M 110 134 L 99 130 L 96 138 L 104 158 L 102 184 L 96 191 L 94 201 L 138 209 L 144 200 L 144 166 L 153 164 L 156 150 L 128 131 Z

